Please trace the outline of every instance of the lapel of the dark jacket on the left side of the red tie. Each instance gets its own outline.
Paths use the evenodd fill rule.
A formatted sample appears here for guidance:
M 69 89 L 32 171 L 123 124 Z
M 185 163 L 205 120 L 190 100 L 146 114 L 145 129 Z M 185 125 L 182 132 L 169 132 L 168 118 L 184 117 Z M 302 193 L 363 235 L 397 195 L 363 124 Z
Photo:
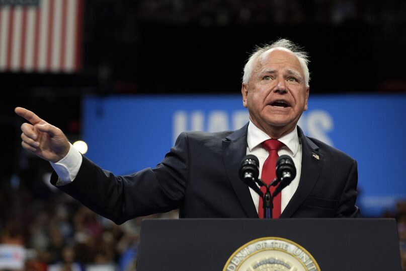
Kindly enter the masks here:
M 241 160 L 247 154 L 247 129 L 248 123 L 223 140 L 223 161 L 228 179 L 241 202 L 242 208 L 249 218 L 258 218 L 250 189 L 238 175 Z

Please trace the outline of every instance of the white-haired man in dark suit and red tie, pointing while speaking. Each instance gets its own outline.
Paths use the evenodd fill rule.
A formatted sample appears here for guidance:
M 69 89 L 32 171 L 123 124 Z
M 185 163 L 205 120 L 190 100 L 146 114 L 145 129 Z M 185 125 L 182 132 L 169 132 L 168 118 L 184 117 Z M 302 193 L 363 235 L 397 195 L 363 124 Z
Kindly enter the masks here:
M 286 39 L 256 48 L 241 88 L 249 123 L 235 131 L 183 132 L 153 169 L 115 176 L 77 152 L 59 128 L 17 107 L 31 123 L 21 125 L 22 146 L 51 163 L 52 184 L 117 224 L 174 209 L 180 218 L 263 217 L 262 198 L 238 175 L 249 154 L 258 158 L 265 182 L 274 178 L 279 156 L 295 165 L 296 177 L 275 197 L 272 217 L 360 217 L 357 162 L 297 126 L 307 110 L 307 63 L 307 54 Z

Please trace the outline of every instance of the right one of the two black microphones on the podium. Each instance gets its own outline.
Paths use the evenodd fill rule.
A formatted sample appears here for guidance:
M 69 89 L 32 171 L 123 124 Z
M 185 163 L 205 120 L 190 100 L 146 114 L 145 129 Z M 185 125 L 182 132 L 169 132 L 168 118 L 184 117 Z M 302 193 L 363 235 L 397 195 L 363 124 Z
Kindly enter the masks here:
M 276 160 L 276 177 L 280 180 L 280 183 L 278 187 L 276 187 L 272 197 L 282 191 L 282 189 L 288 186 L 296 177 L 296 167 L 290 156 L 281 155 L 278 160 Z

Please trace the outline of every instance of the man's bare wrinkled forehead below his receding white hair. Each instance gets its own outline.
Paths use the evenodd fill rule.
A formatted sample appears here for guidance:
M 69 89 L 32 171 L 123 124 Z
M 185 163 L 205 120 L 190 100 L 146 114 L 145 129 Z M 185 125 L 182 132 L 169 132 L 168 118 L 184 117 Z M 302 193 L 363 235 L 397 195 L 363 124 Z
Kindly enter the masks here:
M 297 56 L 286 48 L 272 48 L 264 52 L 257 59 L 257 72 L 264 68 L 272 67 L 273 69 L 293 69 L 303 74 L 300 61 Z

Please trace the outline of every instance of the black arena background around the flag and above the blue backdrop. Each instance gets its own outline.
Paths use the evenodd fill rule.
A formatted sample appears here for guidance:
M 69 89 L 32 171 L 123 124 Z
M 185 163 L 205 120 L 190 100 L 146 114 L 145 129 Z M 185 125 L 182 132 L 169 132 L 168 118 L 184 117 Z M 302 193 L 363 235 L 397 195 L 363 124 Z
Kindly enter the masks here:
M 83 18 L 79 73 L 0 73 L 3 185 L 49 169 L 24 164 L 16 106 L 79 137 L 85 95 L 239 93 L 249 53 L 278 38 L 309 52 L 311 95 L 406 91 L 402 0 L 86 0 Z

